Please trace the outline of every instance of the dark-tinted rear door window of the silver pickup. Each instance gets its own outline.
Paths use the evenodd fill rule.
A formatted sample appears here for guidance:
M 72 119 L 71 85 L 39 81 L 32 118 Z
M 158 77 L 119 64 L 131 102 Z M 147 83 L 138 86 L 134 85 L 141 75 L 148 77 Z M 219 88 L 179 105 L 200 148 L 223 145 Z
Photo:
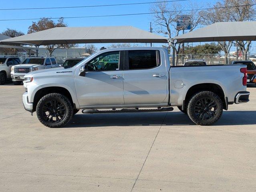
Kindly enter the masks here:
M 129 51 L 129 69 L 149 69 L 158 66 L 158 51 L 136 50 Z

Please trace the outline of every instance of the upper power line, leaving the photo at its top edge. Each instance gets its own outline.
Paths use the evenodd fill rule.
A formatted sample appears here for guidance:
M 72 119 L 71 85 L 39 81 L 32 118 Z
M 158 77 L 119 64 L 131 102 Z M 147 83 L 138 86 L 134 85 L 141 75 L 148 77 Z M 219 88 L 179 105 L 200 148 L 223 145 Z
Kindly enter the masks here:
M 0 9 L 0 10 L 32 10 L 32 9 L 65 9 L 65 8 L 107 7 L 107 6 L 167 3 L 167 2 L 178 2 L 178 1 L 188 1 L 188 0 L 171 0 L 171 1 L 158 1 L 158 2 L 125 3 L 125 4 L 109 4 L 109 5 L 89 5 L 89 6 L 72 6 L 72 7 L 10 8 L 10 9 Z

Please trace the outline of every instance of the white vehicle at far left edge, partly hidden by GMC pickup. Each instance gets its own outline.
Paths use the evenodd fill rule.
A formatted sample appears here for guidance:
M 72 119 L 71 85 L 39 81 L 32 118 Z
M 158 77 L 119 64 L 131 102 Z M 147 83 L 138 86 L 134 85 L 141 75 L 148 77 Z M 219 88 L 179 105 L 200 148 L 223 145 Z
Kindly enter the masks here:
M 5 84 L 6 80 L 11 77 L 11 68 L 20 64 L 18 57 L 0 57 L 0 85 Z

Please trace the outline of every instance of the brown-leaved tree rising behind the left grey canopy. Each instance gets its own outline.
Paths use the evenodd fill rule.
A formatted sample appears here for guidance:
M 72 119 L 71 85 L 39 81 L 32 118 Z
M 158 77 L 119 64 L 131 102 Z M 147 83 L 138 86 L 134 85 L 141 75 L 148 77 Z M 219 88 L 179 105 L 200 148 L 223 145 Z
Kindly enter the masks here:
M 33 32 L 38 32 L 46 29 L 51 29 L 54 27 L 67 27 L 67 24 L 64 23 L 63 18 L 58 19 L 58 22 L 55 23 L 49 18 L 41 18 L 38 22 L 32 22 L 32 25 L 28 27 L 28 34 Z M 50 56 L 56 48 L 71 48 L 75 47 L 76 44 L 59 44 L 59 45 L 46 45 L 46 49 L 49 51 Z

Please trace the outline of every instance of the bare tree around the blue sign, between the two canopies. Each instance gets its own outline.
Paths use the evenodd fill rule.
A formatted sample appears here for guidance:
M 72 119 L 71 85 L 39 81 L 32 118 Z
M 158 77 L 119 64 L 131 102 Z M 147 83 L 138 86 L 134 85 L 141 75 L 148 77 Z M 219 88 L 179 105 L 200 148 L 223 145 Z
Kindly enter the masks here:
M 153 14 L 154 22 L 157 27 L 157 32 L 167 35 L 168 39 L 171 39 L 174 36 L 178 36 L 184 28 L 177 27 L 177 16 L 181 14 L 189 15 L 191 18 L 191 29 L 194 30 L 198 24 L 201 22 L 201 15 L 198 14 L 198 6 L 195 3 L 190 3 L 189 12 L 183 12 L 181 4 L 179 3 L 167 3 L 159 2 L 154 4 L 150 11 L 155 13 Z M 168 50 L 170 50 L 168 46 Z M 175 48 L 176 54 L 179 54 L 181 50 L 181 44 L 177 44 Z M 182 52 L 184 50 L 182 49 Z M 176 60 L 177 62 L 177 60 Z

